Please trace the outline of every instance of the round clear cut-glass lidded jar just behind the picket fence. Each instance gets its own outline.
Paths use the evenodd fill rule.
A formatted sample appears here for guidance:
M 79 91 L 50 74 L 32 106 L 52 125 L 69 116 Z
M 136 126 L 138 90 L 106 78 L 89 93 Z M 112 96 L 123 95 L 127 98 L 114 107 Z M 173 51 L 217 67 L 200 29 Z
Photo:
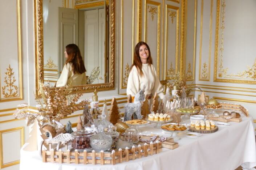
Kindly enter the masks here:
M 105 151 L 112 145 L 112 138 L 103 130 L 102 126 L 98 127 L 98 133 L 90 138 L 90 145 L 96 152 Z

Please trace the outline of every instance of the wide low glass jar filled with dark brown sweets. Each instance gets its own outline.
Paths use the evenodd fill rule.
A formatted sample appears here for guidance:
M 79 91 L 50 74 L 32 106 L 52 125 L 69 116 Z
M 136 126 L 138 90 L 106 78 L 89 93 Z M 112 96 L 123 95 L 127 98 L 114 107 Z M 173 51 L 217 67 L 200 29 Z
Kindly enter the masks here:
M 90 137 L 94 136 L 96 132 L 92 128 L 86 127 L 86 129 L 81 129 L 81 131 L 76 131 L 71 133 L 73 137 L 72 148 L 74 149 L 92 149 L 90 145 Z

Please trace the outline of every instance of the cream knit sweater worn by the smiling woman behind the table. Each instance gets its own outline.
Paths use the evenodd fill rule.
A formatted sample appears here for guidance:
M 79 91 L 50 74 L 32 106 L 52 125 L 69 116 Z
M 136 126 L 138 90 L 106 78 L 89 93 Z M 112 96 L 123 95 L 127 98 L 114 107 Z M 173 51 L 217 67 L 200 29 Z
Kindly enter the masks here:
M 142 72 L 143 76 L 140 76 L 135 66 L 131 69 L 127 82 L 127 95 L 131 94 L 131 96 L 135 96 L 145 85 L 145 95 L 154 95 L 157 92 L 159 97 L 163 99 L 163 87 L 160 84 L 153 64 L 142 64 Z

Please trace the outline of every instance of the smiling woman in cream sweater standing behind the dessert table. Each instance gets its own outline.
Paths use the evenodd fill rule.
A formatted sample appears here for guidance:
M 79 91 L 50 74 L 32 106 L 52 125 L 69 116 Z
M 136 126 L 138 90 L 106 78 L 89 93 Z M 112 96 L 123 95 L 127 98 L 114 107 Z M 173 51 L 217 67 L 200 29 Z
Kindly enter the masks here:
M 143 86 L 147 99 L 151 99 L 155 92 L 163 99 L 163 88 L 152 64 L 149 46 L 145 42 L 139 42 L 134 49 L 126 93 L 134 98 Z

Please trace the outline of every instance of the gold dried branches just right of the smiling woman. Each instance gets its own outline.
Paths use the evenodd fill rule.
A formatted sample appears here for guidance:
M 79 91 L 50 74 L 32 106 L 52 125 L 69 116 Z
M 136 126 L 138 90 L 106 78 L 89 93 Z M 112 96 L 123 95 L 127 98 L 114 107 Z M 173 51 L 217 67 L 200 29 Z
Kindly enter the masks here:
M 178 89 L 178 95 L 181 96 L 182 89 L 185 89 L 186 95 L 188 96 L 192 90 L 192 84 L 194 81 L 191 82 L 191 84 L 187 85 L 188 79 L 186 77 L 180 78 L 180 73 L 176 72 L 172 75 L 170 75 L 170 82 L 167 83 L 170 89 L 172 89 L 173 86 L 176 86 Z

